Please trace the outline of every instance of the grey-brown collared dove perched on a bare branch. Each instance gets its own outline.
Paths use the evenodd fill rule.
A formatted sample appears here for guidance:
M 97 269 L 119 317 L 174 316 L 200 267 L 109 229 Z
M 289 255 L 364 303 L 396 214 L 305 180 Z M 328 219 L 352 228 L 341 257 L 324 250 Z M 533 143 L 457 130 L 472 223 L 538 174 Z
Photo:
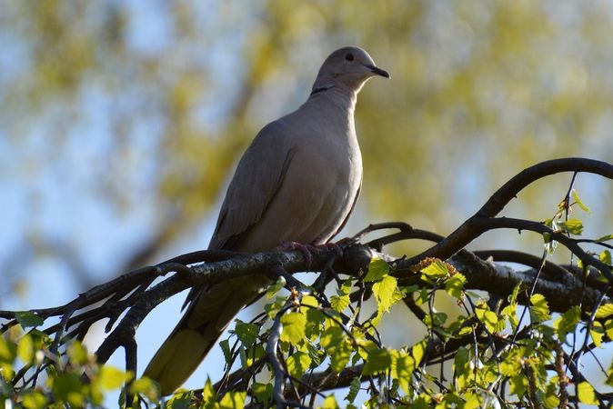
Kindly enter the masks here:
M 368 53 L 345 46 L 319 69 L 307 102 L 264 126 L 227 187 L 209 250 L 274 251 L 324 245 L 347 223 L 362 185 L 354 111 L 373 76 L 389 78 Z M 271 284 L 265 276 L 192 290 L 176 328 L 144 376 L 172 394 L 196 370 L 234 316 Z

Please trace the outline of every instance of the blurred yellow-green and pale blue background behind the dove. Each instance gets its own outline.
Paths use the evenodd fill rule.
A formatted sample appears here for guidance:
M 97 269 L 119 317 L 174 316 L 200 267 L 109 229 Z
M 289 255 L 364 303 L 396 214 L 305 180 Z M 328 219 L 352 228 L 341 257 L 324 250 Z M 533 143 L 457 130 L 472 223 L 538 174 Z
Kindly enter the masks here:
M 611 2 L 0 5 L 3 309 L 62 304 L 134 267 L 206 248 L 238 156 L 305 101 L 321 62 L 343 45 L 363 46 L 392 75 L 358 99 L 365 179 L 345 235 L 381 221 L 448 234 L 528 165 L 613 162 Z M 551 217 L 569 180 L 539 182 L 506 214 Z M 611 186 L 578 177 L 589 236 L 613 233 Z M 540 254 L 542 239 L 497 232 L 472 247 Z M 141 328 L 141 371 L 181 302 Z M 415 334 L 394 324 L 406 311 L 395 313 L 384 322 L 396 329 L 388 341 L 410 343 Z M 92 347 L 102 335 L 92 332 Z M 187 386 L 220 370 L 213 354 Z

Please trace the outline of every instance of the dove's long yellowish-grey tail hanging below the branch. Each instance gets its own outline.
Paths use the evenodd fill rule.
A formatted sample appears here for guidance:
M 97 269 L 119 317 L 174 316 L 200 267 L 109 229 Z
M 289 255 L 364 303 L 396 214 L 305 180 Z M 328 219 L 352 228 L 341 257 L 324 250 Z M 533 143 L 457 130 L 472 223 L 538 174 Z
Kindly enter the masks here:
M 256 299 L 258 288 L 251 278 L 215 284 L 198 294 L 189 305 L 143 374 L 160 384 L 162 395 L 172 394 L 186 382 L 227 324 Z

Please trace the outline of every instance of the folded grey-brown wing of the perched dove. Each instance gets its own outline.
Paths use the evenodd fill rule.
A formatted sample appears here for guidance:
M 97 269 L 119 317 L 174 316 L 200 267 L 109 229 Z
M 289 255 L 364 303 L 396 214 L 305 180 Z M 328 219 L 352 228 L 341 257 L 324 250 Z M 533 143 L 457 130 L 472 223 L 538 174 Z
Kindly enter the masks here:
M 256 135 L 227 188 L 209 249 L 250 251 L 241 242 L 276 195 L 292 160 L 291 139 L 282 119 Z

